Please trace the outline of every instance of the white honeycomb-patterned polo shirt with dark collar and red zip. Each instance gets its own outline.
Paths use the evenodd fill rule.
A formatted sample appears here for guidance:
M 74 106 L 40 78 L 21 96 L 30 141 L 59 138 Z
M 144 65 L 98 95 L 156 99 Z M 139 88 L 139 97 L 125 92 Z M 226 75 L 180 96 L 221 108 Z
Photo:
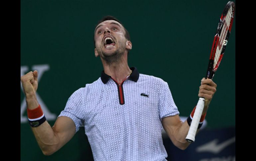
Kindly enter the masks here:
M 139 74 L 122 84 L 101 77 L 75 91 L 60 116 L 85 128 L 95 161 L 164 161 L 162 118 L 179 115 L 168 84 Z

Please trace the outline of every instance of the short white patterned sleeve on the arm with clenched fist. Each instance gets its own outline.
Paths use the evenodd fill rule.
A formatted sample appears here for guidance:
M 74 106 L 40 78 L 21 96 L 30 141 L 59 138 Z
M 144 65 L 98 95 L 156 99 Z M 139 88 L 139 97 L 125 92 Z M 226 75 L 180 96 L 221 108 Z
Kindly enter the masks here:
M 84 106 L 84 88 L 80 88 L 68 98 L 65 109 L 58 117 L 66 116 L 72 119 L 75 123 L 75 132 L 77 132 L 80 127 L 84 126 L 82 117 Z

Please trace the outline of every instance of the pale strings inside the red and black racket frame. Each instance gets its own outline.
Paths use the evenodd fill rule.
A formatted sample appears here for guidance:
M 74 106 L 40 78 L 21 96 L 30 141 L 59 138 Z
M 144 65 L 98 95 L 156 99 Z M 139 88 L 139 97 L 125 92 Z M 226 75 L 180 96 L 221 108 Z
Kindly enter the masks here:
M 231 18 L 232 18 L 232 11 L 233 11 L 233 8 L 232 6 L 229 8 L 228 12 L 227 12 L 227 15 L 225 17 L 225 22 L 226 23 L 226 26 L 228 27 L 227 30 L 222 28 L 222 31 L 220 33 L 220 38 L 219 40 L 222 40 L 222 39 L 225 39 L 226 38 L 226 35 L 227 35 L 227 32 L 228 32 L 228 29 L 229 29 L 229 25 L 230 25 L 230 22 L 231 22 Z M 222 20 L 223 21 L 223 20 Z M 223 24 L 225 26 L 225 24 Z M 216 49 L 216 52 L 215 52 L 215 57 L 214 57 L 214 64 L 213 64 L 213 68 L 215 68 L 216 70 L 216 67 L 218 67 L 219 65 L 219 58 L 220 58 L 220 55 L 221 55 L 221 50 L 223 48 L 223 45 L 226 44 L 225 42 L 226 40 L 223 41 L 223 43 L 221 44 L 221 47 L 217 47 Z

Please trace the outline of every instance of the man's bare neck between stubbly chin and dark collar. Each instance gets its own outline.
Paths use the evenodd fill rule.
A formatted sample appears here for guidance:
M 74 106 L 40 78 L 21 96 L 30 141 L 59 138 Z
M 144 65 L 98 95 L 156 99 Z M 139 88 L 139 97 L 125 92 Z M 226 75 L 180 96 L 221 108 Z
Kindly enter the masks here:
M 126 55 L 127 56 L 127 55 Z M 127 57 L 122 56 L 118 62 L 106 63 L 101 59 L 104 72 L 115 79 L 119 84 L 131 73 L 131 69 L 128 66 Z

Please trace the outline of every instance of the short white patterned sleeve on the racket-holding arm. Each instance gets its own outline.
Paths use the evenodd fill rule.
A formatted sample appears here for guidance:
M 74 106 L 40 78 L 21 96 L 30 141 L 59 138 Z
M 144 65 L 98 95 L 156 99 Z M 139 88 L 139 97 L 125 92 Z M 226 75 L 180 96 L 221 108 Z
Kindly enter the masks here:
M 171 91 L 167 82 L 164 82 L 159 92 L 159 118 L 162 121 L 163 118 L 168 116 L 179 115 L 177 106 L 174 103 Z

